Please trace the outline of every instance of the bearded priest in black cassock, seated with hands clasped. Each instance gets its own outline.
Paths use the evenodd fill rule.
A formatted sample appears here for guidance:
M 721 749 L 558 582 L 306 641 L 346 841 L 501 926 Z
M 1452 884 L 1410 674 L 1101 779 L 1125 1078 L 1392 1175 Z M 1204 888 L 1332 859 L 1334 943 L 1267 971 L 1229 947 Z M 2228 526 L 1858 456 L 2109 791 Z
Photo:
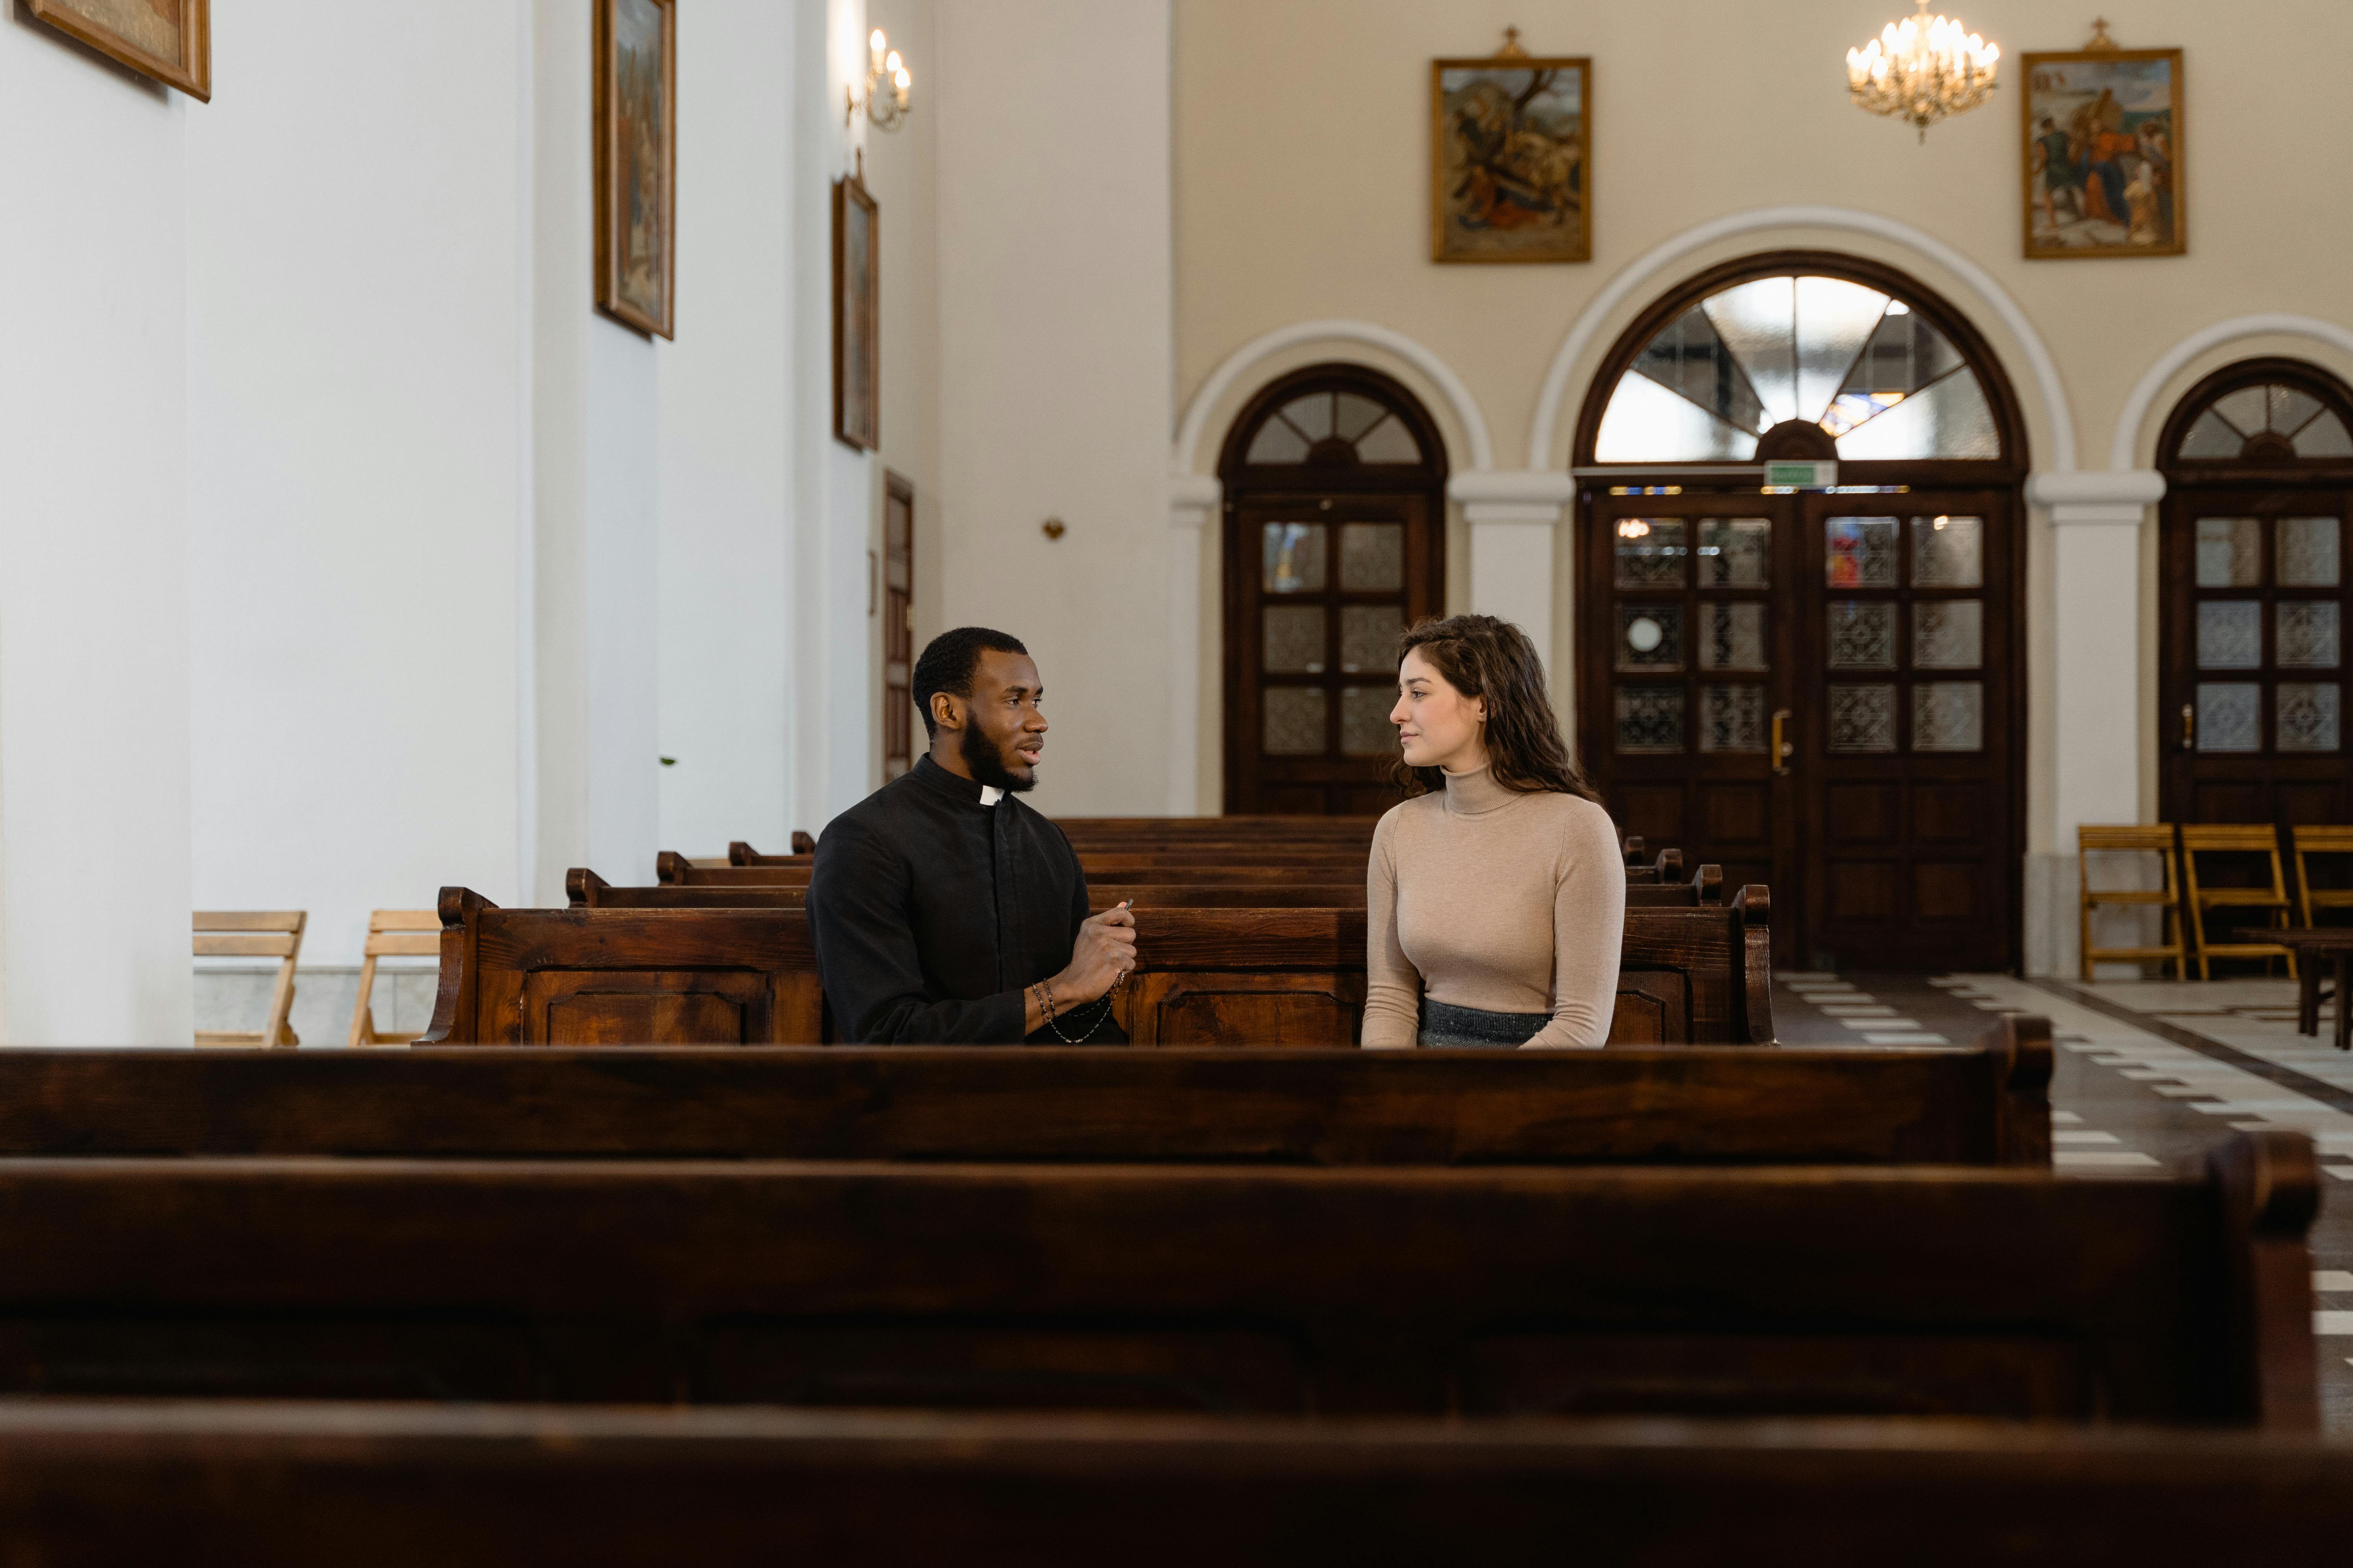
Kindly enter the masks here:
M 1136 917 L 1089 919 L 1071 839 L 1021 804 L 1040 696 L 1005 632 L 941 632 L 915 661 L 932 750 L 826 825 L 809 877 L 842 1044 L 1127 1044 L 1108 992 L 1136 966 Z

